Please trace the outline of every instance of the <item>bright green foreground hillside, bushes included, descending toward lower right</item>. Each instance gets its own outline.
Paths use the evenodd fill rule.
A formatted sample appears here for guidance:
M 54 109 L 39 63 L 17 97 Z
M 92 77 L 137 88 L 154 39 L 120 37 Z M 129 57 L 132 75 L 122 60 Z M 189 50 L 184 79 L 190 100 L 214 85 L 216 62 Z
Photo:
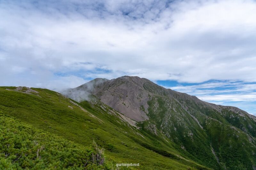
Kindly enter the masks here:
M 128 169 L 209 169 L 170 139 L 155 138 L 88 97 L 90 102 L 77 103 L 47 89 L 0 87 L 0 167 L 116 169 L 116 163 L 139 163 Z M 92 159 L 93 140 L 105 149 L 103 165 Z

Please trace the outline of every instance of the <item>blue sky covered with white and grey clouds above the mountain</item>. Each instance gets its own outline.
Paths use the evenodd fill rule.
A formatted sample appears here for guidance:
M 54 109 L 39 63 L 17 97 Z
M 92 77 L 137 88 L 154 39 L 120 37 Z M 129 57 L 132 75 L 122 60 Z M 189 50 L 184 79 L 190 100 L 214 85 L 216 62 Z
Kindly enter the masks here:
M 0 86 L 147 78 L 256 115 L 255 0 L 0 0 Z

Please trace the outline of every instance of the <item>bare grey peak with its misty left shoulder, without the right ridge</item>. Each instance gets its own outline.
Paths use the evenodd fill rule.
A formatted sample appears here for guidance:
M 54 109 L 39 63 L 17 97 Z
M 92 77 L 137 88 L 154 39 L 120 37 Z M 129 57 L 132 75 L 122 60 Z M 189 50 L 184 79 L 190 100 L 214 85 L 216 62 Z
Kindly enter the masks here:
M 94 79 L 62 94 L 78 102 L 96 96 L 100 101 L 125 116 L 140 122 L 148 120 L 148 92 L 143 84 L 150 82 L 139 77 L 123 76 L 117 79 Z

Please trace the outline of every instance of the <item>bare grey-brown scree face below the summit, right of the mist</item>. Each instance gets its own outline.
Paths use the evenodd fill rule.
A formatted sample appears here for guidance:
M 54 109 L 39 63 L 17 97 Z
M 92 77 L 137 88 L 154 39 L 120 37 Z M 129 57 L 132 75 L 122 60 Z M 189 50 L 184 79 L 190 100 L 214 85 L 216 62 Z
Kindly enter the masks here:
M 143 89 L 146 81 L 139 77 L 124 76 L 107 81 L 92 94 L 125 116 L 135 121 L 144 121 L 148 119 L 148 92 Z

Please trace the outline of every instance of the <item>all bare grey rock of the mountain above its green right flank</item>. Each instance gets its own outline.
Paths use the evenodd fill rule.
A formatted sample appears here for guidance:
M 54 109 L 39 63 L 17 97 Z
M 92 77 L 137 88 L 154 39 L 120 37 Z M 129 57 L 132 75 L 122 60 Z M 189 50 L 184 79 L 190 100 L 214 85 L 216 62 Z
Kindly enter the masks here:
M 200 109 L 210 109 L 220 114 L 223 114 L 223 110 L 226 110 L 226 112 L 229 110 L 239 116 L 251 117 L 256 121 L 254 116 L 238 108 L 207 103 L 199 100 L 196 96 L 165 89 L 148 79 L 137 76 L 123 76 L 112 80 L 96 78 L 74 89 L 63 91 L 62 94 L 78 102 L 91 100 L 92 97 L 95 97 L 137 122 L 149 119 L 148 101 L 156 96 L 162 96 L 166 98 L 167 103 L 176 103 L 176 106 L 179 103 L 186 111 L 190 110 L 191 112 L 196 105 Z M 167 103 L 165 102 L 165 104 Z M 189 103 L 193 103 L 193 105 Z M 175 110 L 175 104 L 170 104 L 170 108 Z

